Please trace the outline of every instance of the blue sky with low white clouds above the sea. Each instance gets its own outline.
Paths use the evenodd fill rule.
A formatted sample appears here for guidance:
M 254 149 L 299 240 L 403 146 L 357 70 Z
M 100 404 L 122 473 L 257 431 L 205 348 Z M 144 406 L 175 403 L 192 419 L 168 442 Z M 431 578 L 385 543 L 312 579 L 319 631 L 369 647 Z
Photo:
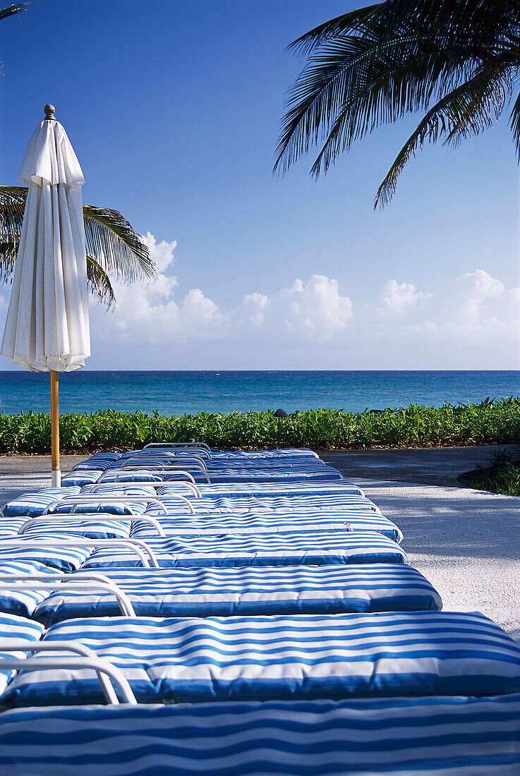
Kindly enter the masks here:
M 92 305 L 89 369 L 518 368 L 505 116 L 456 151 L 426 147 L 384 211 L 374 193 L 416 117 L 317 182 L 310 157 L 272 175 L 301 66 L 284 49 L 355 5 L 33 0 L 2 22 L 2 182 L 53 102 L 85 203 L 120 210 L 160 262 L 114 313 Z

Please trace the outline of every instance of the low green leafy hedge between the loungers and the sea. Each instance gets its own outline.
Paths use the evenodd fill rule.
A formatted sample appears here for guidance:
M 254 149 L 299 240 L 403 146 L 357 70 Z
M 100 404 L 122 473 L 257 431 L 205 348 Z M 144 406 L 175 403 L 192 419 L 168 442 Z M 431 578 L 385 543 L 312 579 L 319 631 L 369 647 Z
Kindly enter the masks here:
M 285 446 L 367 448 L 513 442 L 520 438 L 520 397 L 453 407 L 410 407 L 383 412 L 298 411 L 281 421 Z M 64 414 L 62 451 L 138 448 L 147 442 L 206 442 L 212 447 L 276 445 L 272 412 L 177 417 L 114 410 Z M 50 415 L 0 413 L 0 453 L 50 452 Z

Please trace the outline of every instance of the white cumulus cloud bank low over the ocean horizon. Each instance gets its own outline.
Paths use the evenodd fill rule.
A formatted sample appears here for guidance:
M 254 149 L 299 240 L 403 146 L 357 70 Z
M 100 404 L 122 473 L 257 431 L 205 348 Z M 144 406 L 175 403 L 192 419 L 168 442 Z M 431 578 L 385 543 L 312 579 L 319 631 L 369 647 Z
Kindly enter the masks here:
M 175 241 L 144 239 L 158 279 L 118 284 L 108 314 L 92 305 L 91 368 L 518 368 L 520 288 L 484 269 L 446 278 L 442 295 L 390 277 L 362 303 L 314 274 L 223 307 L 210 289 L 185 288 Z

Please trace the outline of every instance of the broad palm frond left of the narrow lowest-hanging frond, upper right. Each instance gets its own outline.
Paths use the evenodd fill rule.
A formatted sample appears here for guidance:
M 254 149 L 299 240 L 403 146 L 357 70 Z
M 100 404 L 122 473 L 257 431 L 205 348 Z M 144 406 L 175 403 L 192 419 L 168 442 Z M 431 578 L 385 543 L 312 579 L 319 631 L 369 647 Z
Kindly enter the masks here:
M 289 94 L 275 170 L 285 172 L 328 137 L 313 166 L 316 174 L 325 153 L 330 162 L 381 123 L 426 109 L 435 90 L 448 90 L 471 74 L 465 54 L 439 51 L 434 33 L 384 41 L 346 36 L 325 44 L 310 57 Z M 337 149 L 333 154 L 332 147 Z

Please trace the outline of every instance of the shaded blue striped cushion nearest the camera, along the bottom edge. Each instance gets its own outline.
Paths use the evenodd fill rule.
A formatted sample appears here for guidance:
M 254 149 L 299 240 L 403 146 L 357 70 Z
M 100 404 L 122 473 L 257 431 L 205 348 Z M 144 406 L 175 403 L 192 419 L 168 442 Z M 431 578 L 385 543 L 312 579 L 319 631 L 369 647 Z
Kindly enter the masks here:
M 520 695 L 11 709 L 0 771 L 518 776 Z

